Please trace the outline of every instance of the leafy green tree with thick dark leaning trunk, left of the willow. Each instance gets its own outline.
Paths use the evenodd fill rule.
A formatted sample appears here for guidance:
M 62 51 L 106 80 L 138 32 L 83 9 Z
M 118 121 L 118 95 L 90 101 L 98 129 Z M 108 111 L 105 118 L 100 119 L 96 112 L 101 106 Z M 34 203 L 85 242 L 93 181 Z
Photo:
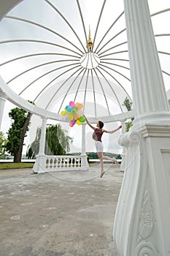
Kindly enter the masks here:
M 11 128 L 7 132 L 7 152 L 14 157 L 14 162 L 21 162 L 24 138 L 27 136 L 31 113 L 22 108 L 12 108 L 9 117 L 12 119 Z

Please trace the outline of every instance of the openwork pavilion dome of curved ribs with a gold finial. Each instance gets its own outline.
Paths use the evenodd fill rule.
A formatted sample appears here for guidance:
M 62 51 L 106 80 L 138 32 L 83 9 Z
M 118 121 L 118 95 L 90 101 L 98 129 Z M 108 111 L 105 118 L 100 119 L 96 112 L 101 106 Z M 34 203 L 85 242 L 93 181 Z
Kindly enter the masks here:
M 4 59 L 0 65 L 1 76 L 20 97 L 34 101 L 45 110 L 54 109 L 60 113 L 72 99 L 82 102 L 86 112 L 90 102 L 95 117 L 101 112 L 98 102 L 106 110 L 105 116 L 123 113 L 126 111 L 123 107 L 125 97 L 131 99 L 125 18 L 124 11 L 120 11 L 123 2 L 114 15 L 107 15 L 108 10 L 115 7 L 114 1 L 99 1 L 98 7 L 94 2 L 90 4 L 90 12 L 96 12 L 96 19 L 90 17 L 90 29 L 85 18 L 85 2 L 89 4 L 88 1 L 72 1 L 69 8 L 70 12 L 74 10 L 74 15 L 70 15 L 66 1 L 62 1 L 63 4 L 55 0 L 39 1 L 42 4 L 39 10 L 47 14 L 38 17 L 34 1 L 27 0 L 5 15 L 1 29 L 7 26 L 13 33 L 8 35 L 7 32 L 1 37 L 0 50 Z M 26 12 L 27 7 L 34 13 Z M 167 8 L 151 17 L 161 17 L 169 11 Z M 104 26 L 106 15 L 107 26 Z M 155 34 L 155 39 L 169 39 L 169 36 L 168 33 Z M 158 53 L 170 55 L 163 50 Z M 6 69 L 15 69 L 15 72 L 9 74 Z M 168 69 L 162 72 L 170 77 Z

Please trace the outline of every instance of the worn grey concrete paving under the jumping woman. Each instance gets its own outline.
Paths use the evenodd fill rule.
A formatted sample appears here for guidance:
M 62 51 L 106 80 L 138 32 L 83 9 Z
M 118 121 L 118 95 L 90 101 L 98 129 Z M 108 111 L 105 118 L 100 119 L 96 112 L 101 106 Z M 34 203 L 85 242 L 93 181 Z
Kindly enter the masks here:
M 119 165 L 34 174 L 0 171 L 0 256 L 117 256 Z

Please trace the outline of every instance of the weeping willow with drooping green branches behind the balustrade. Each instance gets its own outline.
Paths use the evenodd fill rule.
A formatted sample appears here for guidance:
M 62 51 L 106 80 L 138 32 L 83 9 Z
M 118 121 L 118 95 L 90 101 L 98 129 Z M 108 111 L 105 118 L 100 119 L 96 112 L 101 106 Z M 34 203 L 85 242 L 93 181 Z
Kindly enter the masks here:
M 34 159 L 39 153 L 39 141 L 42 129 L 36 130 L 36 138 L 31 145 L 28 146 L 26 157 Z M 70 143 L 73 139 L 67 135 L 66 129 L 62 129 L 60 124 L 51 125 L 46 128 L 45 154 L 63 155 L 70 151 Z

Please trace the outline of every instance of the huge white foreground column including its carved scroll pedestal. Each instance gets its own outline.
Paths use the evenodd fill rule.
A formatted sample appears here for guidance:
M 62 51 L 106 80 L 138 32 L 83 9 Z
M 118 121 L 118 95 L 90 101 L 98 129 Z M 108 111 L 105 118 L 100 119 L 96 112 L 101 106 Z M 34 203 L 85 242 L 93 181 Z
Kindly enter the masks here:
M 147 0 L 124 0 L 136 116 L 120 138 L 125 174 L 114 238 L 119 256 L 170 255 L 170 113 Z

